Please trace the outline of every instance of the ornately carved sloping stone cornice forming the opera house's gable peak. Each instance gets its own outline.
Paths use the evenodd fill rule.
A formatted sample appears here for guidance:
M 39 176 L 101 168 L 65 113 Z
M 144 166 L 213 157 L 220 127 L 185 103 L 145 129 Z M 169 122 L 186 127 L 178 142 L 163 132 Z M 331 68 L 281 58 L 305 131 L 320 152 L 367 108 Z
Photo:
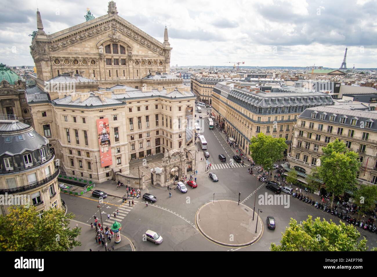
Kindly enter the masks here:
M 157 55 L 165 55 L 164 46 L 161 42 L 141 31 L 127 20 L 112 14 L 107 14 L 49 35 L 48 37 L 51 39 L 49 50 L 51 52 L 60 51 L 106 32 L 113 32 L 114 30 L 116 30 L 117 34 L 136 41 Z

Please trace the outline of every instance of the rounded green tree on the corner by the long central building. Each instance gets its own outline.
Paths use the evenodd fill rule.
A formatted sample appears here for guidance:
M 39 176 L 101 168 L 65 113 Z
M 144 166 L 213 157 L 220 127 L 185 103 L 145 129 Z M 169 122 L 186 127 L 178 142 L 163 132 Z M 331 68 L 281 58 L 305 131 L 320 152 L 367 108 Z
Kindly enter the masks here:
M 250 139 L 249 149 L 254 162 L 260 164 L 264 170 L 270 171 L 274 162 L 283 158 L 287 144 L 284 138 L 273 138 L 259 133 L 257 137 Z

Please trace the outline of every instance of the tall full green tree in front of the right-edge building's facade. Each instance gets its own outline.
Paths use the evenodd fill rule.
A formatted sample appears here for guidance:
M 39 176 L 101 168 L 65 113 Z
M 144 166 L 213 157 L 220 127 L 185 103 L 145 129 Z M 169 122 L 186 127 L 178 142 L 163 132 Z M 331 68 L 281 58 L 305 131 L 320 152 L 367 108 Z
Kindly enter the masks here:
M 316 172 L 322 179 L 326 190 L 331 192 L 331 208 L 334 205 L 334 196 L 344 194 L 345 191 L 354 190 L 356 172 L 360 162 L 357 153 L 349 151 L 343 141 L 335 140 L 326 147 L 322 147 L 321 165 Z

